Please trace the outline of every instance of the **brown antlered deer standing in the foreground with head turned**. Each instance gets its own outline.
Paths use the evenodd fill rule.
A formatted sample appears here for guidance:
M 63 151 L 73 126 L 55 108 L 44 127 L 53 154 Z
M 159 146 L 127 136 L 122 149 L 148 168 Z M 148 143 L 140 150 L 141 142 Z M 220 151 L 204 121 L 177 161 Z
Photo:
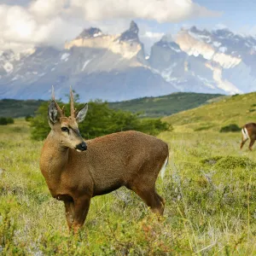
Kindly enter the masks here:
M 71 115 L 55 102 L 53 92 L 48 118 L 51 131 L 44 142 L 40 169 L 51 195 L 64 201 L 67 224 L 77 232 L 84 224 L 90 199 L 121 186 L 133 190 L 160 215 L 165 201 L 155 191 L 155 181 L 168 161 L 168 146 L 138 131 L 122 131 L 84 142 L 78 123 L 88 105 L 78 112 L 70 90 Z M 58 117 L 59 115 L 59 117 Z

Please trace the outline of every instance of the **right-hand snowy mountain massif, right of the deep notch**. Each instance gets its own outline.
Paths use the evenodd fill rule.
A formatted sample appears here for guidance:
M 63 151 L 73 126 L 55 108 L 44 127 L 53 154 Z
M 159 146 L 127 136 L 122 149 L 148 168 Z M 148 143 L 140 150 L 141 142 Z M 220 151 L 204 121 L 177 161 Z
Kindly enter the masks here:
M 177 90 L 239 94 L 256 90 L 255 50 L 253 37 L 192 26 L 154 44 L 148 61 Z

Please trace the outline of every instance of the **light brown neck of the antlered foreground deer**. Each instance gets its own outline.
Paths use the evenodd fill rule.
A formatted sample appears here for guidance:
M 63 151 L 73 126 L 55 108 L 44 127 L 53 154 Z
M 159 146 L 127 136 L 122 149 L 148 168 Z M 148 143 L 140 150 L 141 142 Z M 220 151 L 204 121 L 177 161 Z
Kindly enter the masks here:
M 67 169 L 68 151 L 51 131 L 45 140 L 40 160 L 40 168 L 49 187 L 60 183 L 61 174 Z

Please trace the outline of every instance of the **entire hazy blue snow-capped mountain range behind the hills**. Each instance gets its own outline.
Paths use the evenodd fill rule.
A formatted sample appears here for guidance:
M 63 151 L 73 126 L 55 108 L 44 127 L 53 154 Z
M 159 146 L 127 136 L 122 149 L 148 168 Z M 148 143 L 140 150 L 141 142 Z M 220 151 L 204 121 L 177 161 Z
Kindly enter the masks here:
M 63 49 L 0 52 L 0 98 L 63 100 L 69 85 L 81 101 L 122 101 L 174 91 L 235 94 L 256 90 L 256 39 L 195 26 L 166 35 L 145 57 L 134 21 L 119 35 L 84 29 Z

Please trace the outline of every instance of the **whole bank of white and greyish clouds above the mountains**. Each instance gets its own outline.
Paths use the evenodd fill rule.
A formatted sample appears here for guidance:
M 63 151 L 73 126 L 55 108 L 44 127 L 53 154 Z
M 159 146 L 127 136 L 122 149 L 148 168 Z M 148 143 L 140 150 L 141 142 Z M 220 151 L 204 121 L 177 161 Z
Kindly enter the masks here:
M 212 12 L 191 0 L 35 0 L 0 4 L 0 49 L 32 44 L 61 46 L 86 26 L 121 32 L 131 19 L 178 22 Z M 3 2 L 2 2 L 3 3 Z M 9 3 L 5 1 L 5 3 Z M 19 4 L 19 1 L 10 3 Z M 129 21 L 127 21 L 129 20 Z M 148 38 L 157 34 L 148 34 Z

